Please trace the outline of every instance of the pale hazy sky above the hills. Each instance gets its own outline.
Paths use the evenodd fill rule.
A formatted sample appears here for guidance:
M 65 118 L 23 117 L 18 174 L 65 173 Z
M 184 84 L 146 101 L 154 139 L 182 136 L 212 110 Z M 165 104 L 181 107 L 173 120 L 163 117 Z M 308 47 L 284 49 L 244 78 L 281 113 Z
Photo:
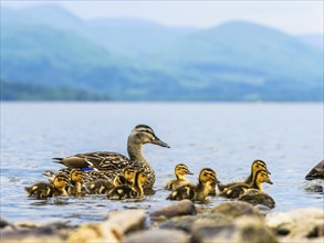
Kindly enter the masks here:
M 291 34 L 323 33 L 324 0 L 261 1 L 13 1 L 1 4 L 20 8 L 55 3 L 83 19 L 140 18 L 165 25 L 210 28 L 230 20 L 247 20 Z

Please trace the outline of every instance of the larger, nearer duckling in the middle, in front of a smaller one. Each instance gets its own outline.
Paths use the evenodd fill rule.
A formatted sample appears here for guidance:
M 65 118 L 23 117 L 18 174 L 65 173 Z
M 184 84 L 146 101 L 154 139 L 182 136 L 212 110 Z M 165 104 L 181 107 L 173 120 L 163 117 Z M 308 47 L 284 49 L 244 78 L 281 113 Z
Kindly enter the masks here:
M 219 183 L 216 172 L 210 168 L 205 168 L 200 171 L 198 178 L 198 184 L 187 184 L 174 190 L 167 199 L 169 200 L 182 200 L 190 199 L 191 201 L 206 201 L 210 190 Z

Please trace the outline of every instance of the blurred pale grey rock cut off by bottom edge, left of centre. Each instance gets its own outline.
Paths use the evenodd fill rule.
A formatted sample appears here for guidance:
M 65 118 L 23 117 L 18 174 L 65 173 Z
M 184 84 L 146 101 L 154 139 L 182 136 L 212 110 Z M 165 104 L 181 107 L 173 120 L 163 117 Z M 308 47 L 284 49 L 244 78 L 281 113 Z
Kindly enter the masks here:
M 123 243 L 189 243 L 189 235 L 177 230 L 149 230 L 127 235 Z

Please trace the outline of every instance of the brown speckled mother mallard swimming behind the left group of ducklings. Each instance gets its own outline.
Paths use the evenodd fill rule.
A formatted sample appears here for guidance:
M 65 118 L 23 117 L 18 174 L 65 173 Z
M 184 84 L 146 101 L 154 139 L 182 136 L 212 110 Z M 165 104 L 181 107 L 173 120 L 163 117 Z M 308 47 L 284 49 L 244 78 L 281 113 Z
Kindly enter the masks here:
M 145 144 L 154 144 L 161 147 L 169 146 L 161 141 L 147 125 L 137 125 L 128 136 L 127 151 L 129 159 L 117 152 L 87 152 L 69 156 L 65 158 L 54 158 L 59 163 L 71 168 L 95 168 L 106 172 L 107 177 L 113 180 L 124 168 L 133 167 L 142 170 L 147 176 L 144 190 L 151 190 L 155 182 L 155 171 L 144 158 L 142 147 Z

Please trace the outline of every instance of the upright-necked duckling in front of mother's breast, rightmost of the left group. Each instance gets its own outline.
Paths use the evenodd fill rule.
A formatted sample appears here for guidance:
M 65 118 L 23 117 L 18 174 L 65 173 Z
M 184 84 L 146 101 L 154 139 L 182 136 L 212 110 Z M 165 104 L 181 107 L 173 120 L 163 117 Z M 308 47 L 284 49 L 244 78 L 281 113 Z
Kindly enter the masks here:
M 127 184 L 115 187 L 107 193 L 108 199 L 140 199 L 144 196 L 143 184 L 146 182 L 147 177 L 142 171 L 136 171 L 134 184 L 132 187 Z

